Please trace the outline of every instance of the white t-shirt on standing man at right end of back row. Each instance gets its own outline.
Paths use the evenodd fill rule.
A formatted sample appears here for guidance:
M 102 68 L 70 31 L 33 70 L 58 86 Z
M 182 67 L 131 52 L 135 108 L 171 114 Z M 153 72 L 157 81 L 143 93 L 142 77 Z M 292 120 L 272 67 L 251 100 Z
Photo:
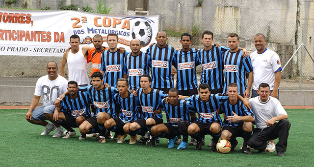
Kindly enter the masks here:
M 273 90 L 275 72 L 282 70 L 278 54 L 266 48 L 261 54 L 253 52 L 250 58 L 253 66 L 253 89 L 258 90 L 260 84 L 267 83 L 270 90 Z

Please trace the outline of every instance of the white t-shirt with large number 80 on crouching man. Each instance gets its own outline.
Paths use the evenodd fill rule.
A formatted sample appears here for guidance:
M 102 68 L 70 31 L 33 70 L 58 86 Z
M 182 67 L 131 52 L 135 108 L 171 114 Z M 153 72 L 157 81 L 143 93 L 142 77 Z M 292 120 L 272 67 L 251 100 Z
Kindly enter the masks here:
M 51 81 L 48 75 L 40 77 L 37 80 L 35 87 L 35 96 L 41 96 L 43 94 L 44 105 L 48 106 L 54 104 L 54 101 L 67 91 L 68 81 L 61 75 Z

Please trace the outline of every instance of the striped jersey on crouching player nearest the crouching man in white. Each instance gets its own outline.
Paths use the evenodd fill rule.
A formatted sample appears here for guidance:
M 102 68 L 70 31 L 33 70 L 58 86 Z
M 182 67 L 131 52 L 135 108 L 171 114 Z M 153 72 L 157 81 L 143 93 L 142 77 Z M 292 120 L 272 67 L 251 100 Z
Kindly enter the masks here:
M 234 115 L 232 112 L 234 112 L 236 115 L 241 116 L 241 117 L 247 116 L 247 115 L 251 115 L 252 117 L 254 117 L 253 112 L 250 109 L 246 109 L 243 102 L 240 101 L 239 99 L 237 99 L 237 102 L 235 105 L 230 104 L 229 100 L 226 100 L 225 102 L 221 104 L 220 113 L 225 113 L 226 116 L 228 117 L 228 116 Z M 223 124 L 223 126 L 237 126 L 239 124 L 241 123 L 240 122 L 232 123 L 229 121 L 228 124 Z

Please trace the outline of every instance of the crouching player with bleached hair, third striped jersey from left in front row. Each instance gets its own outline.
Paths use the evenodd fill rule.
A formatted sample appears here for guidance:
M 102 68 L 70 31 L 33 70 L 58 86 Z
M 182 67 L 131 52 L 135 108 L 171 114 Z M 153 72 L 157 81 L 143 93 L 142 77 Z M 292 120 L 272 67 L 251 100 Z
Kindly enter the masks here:
M 123 143 L 127 137 L 124 131 L 124 125 L 140 118 L 139 102 L 129 89 L 129 81 L 126 78 L 119 78 L 117 82 L 119 94 L 114 96 L 114 103 L 117 111 L 120 112 L 119 117 L 114 117 L 105 122 L 105 128 L 119 134 L 117 143 Z M 135 135 L 131 136 L 130 144 L 135 144 Z

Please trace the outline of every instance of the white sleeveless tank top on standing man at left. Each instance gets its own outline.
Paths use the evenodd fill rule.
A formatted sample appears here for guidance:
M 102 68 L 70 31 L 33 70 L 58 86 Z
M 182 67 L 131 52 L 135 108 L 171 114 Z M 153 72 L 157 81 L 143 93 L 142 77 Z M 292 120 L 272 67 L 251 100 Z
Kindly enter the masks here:
M 69 81 L 76 81 L 78 85 L 88 84 L 87 75 L 87 60 L 85 59 L 82 49 L 79 48 L 78 52 L 73 54 L 71 51 L 68 53 L 68 68 L 69 68 Z

